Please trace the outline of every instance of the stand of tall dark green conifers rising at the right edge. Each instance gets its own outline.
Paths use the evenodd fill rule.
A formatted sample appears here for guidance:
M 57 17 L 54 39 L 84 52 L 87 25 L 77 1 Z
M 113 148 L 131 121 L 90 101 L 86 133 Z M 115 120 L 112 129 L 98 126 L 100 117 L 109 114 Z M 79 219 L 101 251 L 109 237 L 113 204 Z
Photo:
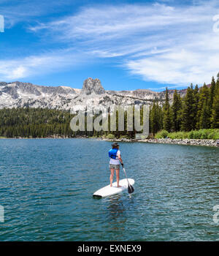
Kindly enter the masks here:
M 166 89 L 164 105 L 154 101 L 150 108 L 150 132 L 155 135 L 161 129 L 167 132 L 189 132 L 198 129 L 219 128 L 219 73 L 217 81 L 212 77 L 210 86 L 204 83 L 188 87 L 185 97 L 174 91 L 172 105 Z

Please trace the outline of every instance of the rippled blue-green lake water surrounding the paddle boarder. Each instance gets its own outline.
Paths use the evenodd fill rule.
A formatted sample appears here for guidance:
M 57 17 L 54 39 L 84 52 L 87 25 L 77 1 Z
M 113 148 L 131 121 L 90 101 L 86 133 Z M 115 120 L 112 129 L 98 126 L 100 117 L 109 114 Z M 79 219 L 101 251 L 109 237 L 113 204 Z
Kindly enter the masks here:
M 0 140 L 0 241 L 219 240 L 219 148 L 120 143 L 135 192 L 96 199 L 110 182 L 110 146 Z

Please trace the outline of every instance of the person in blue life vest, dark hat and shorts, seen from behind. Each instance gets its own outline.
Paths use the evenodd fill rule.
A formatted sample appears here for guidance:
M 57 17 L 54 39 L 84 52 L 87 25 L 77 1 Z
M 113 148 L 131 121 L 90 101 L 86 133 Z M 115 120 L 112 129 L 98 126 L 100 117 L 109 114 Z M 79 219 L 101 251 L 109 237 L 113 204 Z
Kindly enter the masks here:
M 121 187 L 119 185 L 120 181 L 120 163 L 122 166 L 123 165 L 123 160 L 121 159 L 121 153 L 119 150 L 119 145 L 118 143 L 112 143 L 112 149 L 109 151 L 109 157 L 110 157 L 110 187 L 112 187 L 112 181 L 113 181 L 113 176 L 114 176 L 114 170 L 116 173 L 116 181 L 117 181 L 117 187 Z

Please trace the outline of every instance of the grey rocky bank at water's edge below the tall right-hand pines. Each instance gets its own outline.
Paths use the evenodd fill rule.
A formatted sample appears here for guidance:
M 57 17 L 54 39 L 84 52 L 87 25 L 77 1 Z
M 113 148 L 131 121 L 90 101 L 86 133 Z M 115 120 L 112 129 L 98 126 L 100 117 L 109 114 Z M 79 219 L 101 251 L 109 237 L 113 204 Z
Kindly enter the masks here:
M 142 143 L 164 143 L 164 144 L 177 144 L 177 145 L 191 145 L 191 146 L 219 146 L 218 140 L 195 140 L 195 139 L 145 139 L 145 140 L 134 140 L 134 139 L 104 139 L 107 141 L 123 141 L 123 142 L 142 142 Z

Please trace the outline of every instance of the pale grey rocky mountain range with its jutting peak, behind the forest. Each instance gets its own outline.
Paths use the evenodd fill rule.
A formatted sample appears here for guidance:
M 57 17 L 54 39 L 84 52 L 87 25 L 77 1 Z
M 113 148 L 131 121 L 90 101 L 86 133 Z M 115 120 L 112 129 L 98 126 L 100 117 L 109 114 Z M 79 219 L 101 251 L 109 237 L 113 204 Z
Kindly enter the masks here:
M 181 97 L 186 89 L 178 90 Z M 174 90 L 169 90 L 172 99 Z M 68 86 L 37 86 L 32 83 L 0 82 L 1 108 L 50 108 L 59 110 L 83 110 L 86 106 L 109 107 L 110 105 L 150 105 L 153 99 L 163 102 L 165 91 L 156 92 L 148 89 L 134 91 L 104 90 L 99 79 L 88 78 L 82 89 Z

